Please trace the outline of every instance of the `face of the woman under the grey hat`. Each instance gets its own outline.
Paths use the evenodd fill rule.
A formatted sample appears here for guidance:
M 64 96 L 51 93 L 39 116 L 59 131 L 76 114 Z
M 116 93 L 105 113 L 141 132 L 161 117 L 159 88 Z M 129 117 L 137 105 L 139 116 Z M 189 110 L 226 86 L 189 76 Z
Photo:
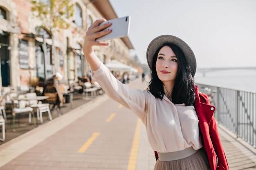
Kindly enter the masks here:
M 158 78 L 165 84 L 174 84 L 178 70 L 177 57 L 169 46 L 163 46 L 155 64 Z

